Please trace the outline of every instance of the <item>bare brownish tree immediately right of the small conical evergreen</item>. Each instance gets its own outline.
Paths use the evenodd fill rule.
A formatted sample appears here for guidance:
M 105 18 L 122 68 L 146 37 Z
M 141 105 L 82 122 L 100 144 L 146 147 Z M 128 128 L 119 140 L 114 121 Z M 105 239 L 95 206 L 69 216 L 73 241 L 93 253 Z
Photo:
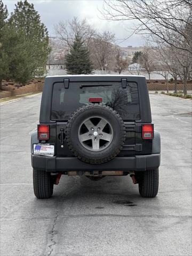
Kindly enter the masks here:
M 90 40 L 89 49 L 91 52 L 94 67 L 99 70 L 109 70 L 114 58 L 115 35 L 109 31 L 98 33 Z

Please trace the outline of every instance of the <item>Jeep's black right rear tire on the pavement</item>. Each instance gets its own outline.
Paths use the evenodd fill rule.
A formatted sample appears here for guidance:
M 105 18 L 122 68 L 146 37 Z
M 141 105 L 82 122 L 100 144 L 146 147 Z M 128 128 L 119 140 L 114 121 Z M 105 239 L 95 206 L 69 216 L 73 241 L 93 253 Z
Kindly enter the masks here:
M 158 193 L 158 169 L 141 172 L 138 178 L 140 195 L 142 197 L 155 197 Z

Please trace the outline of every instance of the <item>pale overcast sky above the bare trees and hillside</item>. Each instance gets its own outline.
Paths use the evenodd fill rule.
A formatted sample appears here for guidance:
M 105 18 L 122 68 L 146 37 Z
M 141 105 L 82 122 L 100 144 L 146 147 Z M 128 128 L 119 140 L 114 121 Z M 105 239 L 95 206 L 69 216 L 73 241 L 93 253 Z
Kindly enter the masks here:
M 54 34 L 54 24 L 78 17 L 86 18 L 90 25 L 99 31 L 109 30 L 116 35 L 116 39 L 127 38 L 131 34 L 132 22 L 106 21 L 101 20 L 99 10 L 102 10 L 102 0 L 28 0 L 34 4 L 35 10 L 41 15 L 42 22 L 49 30 L 50 36 Z M 3 0 L 10 12 L 14 10 L 16 0 Z M 99 10 L 98 10 L 99 9 Z M 133 35 L 124 42 L 116 41 L 117 44 L 126 47 L 127 45 L 141 46 L 143 40 L 139 35 Z

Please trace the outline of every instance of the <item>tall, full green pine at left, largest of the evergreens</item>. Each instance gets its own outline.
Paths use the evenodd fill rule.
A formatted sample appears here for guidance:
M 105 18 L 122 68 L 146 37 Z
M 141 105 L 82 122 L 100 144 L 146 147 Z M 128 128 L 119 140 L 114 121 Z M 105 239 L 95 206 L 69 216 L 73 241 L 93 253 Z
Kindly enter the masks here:
M 35 75 L 43 75 L 50 53 L 49 37 L 34 5 L 27 0 L 18 2 L 8 26 L 17 35 L 11 49 L 11 79 L 26 83 Z

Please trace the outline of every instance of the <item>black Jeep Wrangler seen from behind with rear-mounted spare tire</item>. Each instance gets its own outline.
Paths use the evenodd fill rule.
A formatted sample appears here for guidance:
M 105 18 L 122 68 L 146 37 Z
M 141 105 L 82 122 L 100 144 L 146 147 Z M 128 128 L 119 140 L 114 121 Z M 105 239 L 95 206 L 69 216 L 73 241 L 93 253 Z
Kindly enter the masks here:
M 141 196 L 155 197 L 160 143 L 144 76 L 46 77 L 31 135 L 35 196 L 51 197 L 62 174 L 130 174 Z

